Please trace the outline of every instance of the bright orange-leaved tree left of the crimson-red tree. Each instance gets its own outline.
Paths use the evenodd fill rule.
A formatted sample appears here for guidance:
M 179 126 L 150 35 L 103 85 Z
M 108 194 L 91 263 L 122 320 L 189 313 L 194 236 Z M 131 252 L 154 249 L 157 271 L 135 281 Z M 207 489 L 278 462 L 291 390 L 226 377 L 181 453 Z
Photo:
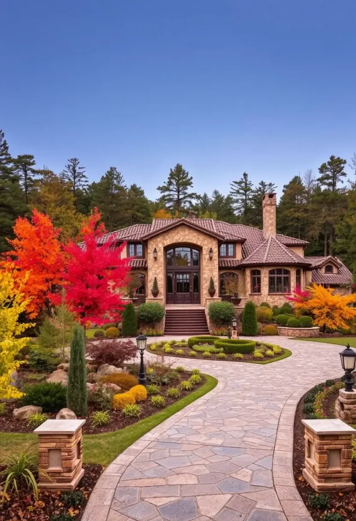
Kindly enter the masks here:
M 26 312 L 35 318 L 44 308 L 51 315 L 50 296 L 61 283 L 64 253 L 58 240 L 60 230 L 54 228 L 50 218 L 32 210 L 32 216 L 18 217 L 14 226 L 15 239 L 9 240 L 12 250 L 3 254 L 2 266 L 15 278 L 28 278 L 21 291 L 29 300 Z

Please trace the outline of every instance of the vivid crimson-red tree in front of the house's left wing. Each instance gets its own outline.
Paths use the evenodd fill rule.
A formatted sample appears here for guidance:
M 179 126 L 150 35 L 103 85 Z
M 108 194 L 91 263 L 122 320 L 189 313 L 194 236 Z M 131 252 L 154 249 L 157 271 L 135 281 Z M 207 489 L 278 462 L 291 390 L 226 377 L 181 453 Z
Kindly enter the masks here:
M 98 244 L 106 233 L 99 220 L 100 213 L 95 208 L 80 231 L 83 243 L 71 241 L 64 248 L 68 256 L 62 273 L 65 302 L 84 327 L 101 326 L 120 318 L 125 308 L 120 288 L 126 287 L 129 280 L 128 259 L 120 258 L 125 244 L 116 248 L 113 240 Z

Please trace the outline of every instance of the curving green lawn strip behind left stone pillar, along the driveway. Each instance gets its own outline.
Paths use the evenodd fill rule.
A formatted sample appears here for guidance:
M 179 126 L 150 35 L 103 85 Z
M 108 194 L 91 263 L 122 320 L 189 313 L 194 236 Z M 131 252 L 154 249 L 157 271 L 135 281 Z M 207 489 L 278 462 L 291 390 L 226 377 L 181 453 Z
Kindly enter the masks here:
M 104 434 L 86 435 L 83 437 L 84 463 L 98 463 L 108 465 L 118 454 L 121 454 L 134 441 L 146 434 L 156 425 L 177 413 L 186 405 L 194 402 L 207 392 L 214 389 L 218 383 L 216 378 L 204 375 L 206 382 L 202 387 L 184 396 L 178 402 L 170 405 L 164 411 L 144 418 L 134 425 L 121 430 Z M 36 450 L 37 436 L 35 434 L 15 434 L 0 432 L 0 461 L 4 455 L 15 454 L 21 451 Z

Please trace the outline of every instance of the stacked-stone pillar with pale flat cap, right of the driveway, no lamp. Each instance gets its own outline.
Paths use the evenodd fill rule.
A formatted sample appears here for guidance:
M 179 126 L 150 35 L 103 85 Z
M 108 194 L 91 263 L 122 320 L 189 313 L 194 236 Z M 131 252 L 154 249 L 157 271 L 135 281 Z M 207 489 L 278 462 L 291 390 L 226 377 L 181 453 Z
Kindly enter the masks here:
M 340 419 L 302 420 L 305 425 L 303 476 L 317 492 L 354 490 L 351 481 L 351 435 Z

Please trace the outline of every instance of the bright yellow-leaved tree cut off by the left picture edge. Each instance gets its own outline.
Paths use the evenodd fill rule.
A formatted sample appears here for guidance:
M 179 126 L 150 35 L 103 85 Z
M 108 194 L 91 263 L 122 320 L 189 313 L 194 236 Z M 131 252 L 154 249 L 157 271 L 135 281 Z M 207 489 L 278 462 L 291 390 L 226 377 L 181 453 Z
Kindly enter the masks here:
M 22 394 L 12 383 L 11 375 L 23 362 L 16 360 L 29 338 L 16 338 L 34 324 L 20 324 L 19 315 L 29 304 L 21 292 L 23 282 L 15 281 L 10 270 L 0 270 L 0 399 L 21 398 Z

